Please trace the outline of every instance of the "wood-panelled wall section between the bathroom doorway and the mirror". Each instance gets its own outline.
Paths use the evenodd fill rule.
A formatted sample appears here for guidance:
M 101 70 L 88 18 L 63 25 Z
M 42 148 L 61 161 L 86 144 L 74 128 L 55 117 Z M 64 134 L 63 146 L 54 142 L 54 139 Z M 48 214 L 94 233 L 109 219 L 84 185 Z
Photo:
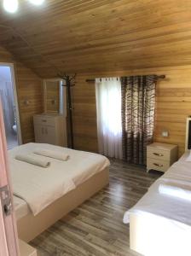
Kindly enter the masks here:
M 0 62 L 14 63 L 22 141 L 23 143 L 33 142 L 32 116 L 43 112 L 42 80 L 31 69 L 15 61 L 14 56 L 2 47 L 0 47 Z

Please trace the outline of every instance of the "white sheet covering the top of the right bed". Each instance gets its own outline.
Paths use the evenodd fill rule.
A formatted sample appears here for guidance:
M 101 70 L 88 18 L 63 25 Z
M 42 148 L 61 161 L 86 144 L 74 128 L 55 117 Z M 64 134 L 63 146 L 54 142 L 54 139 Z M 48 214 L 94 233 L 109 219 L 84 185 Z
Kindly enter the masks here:
M 182 224 L 183 229 L 190 231 L 191 226 L 191 202 L 171 197 L 170 195 L 159 194 L 159 184 L 176 181 L 176 183 L 186 184 L 191 188 L 191 162 L 185 159 L 188 153 L 177 161 L 171 168 L 165 172 L 153 185 L 148 189 L 148 193 L 142 197 L 129 211 L 124 213 L 124 223 L 130 222 L 130 214 L 154 214 L 157 218 L 168 218 L 172 223 Z

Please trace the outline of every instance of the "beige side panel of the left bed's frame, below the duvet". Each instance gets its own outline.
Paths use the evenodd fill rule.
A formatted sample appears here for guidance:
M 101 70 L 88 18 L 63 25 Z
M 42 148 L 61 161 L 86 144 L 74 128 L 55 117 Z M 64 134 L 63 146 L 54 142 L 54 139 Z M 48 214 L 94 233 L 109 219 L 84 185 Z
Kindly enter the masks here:
M 80 184 L 76 189 L 68 192 L 67 195 L 63 195 L 37 216 L 34 217 L 32 213 L 29 213 L 25 217 L 20 218 L 17 221 L 19 238 L 26 242 L 32 241 L 44 230 L 47 230 L 49 226 L 55 224 L 57 220 L 66 216 L 68 212 L 71 212 L 107 186 L 108 183 L 109 171 L 107 167 Z

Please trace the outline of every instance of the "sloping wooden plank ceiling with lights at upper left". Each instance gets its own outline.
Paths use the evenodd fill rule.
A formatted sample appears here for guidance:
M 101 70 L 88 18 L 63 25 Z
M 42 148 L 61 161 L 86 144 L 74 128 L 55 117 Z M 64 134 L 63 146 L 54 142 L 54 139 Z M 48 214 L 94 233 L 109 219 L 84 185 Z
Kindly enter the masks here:
M 41 77 L 187 65 L 191 1 L 20 0 L 0 9 L 0 45 Z

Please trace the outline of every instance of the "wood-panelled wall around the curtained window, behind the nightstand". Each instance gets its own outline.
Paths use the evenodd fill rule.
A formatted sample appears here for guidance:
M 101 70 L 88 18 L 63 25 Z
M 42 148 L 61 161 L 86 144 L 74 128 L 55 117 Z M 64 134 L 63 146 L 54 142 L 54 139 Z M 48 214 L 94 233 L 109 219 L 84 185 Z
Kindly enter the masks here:
M 75 148 L 97 152 L 95 85 L 86 83 L 86 79 L 151 73 L 166 75 L 157 84 L 154 139 L 177 144 L 180 156 L 184 152 L 186 118 L 191 115 L 191 66 L 78 74 L 72 90 Z M 169 131 L 169 137 L 161 136 L 163 130 Z

